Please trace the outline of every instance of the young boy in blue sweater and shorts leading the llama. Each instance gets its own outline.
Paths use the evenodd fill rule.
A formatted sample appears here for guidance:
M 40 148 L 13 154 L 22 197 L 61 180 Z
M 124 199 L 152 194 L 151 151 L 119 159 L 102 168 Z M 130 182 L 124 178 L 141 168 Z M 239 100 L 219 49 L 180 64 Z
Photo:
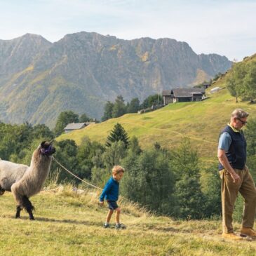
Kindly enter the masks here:
M 106 222 L 103 227 L 109 227 L 109 221 L 116 210 L 116 229 L 126 229 L 126 226 L 120 223 L 121 208 L 117 205 L 116 201 L 119 198 L 119 182 L 123 177 L 124 168 L 122 166 L 114 166 L 112 169 L 112 177 L 105 184 L 105 187 L 100 196 L 100 205 L 103 205 L 104 198 L 107 199 L 109 205 L 109 213 L 107 213 Z

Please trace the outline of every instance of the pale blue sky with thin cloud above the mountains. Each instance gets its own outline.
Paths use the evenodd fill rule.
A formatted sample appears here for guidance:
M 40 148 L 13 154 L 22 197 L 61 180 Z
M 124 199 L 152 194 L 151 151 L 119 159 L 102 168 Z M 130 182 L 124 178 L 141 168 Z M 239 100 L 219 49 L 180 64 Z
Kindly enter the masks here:
M 0 39 L 51 42 L 76 32 L 170 38 L 195 53 L 243 60 L 256 53 L 255 0 L 0 0 Z

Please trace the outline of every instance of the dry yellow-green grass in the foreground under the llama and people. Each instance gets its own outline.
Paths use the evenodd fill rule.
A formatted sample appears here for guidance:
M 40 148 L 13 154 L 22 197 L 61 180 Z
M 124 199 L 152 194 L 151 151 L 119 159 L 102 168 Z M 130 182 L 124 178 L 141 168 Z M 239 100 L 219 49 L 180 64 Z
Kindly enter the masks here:
M 124 201 L 122 221 L 128 228 L 104 229 L 107 207 L 97 206 L 95 191 L 81 195 L 71 187 L 42 191 L 32 198 L 36 206 L 33 222 L 24 212 L 21 220 L 13 217 L 11 193 L 0 200 L 0 255 L 255 255 L 253 241 L 224 241 L 220 220 L 149 216 Z

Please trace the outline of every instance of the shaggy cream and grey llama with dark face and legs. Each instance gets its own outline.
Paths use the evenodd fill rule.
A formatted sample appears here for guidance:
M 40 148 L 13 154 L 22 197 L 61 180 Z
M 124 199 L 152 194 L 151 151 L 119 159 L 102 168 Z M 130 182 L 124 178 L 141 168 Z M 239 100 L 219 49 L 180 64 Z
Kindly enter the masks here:
M 29 219 L 34 220 L 34 206 L 29 197 L 41 191 L 50 171 L 53 153 L 55 148 L 51 142 L 42 142 L 34 151 L 30 166 L 0 159 L 0 196 L 5 191 L 13 193 L 17 202 L 16 218 L 20 218 L 20 211 L 25 208 L 29 213 Z

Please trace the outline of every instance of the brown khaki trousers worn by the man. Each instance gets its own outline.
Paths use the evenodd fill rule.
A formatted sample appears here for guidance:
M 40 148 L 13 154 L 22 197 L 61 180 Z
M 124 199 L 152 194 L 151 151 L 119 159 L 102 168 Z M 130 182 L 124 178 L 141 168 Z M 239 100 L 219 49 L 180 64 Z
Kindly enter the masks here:
M 232 214 L 238 191 L 244 198 L 243 227 L 252 229 L 255 222 L 256 189 L 252 176 L 246 166 L 243 170 L 234 170 L 241 178 L 241 182 L 238 184 L 233 182 L 227 170 L 220 171 L 220 177 L 222 179 L 222 225 L 224 233 L 234 232 Z

